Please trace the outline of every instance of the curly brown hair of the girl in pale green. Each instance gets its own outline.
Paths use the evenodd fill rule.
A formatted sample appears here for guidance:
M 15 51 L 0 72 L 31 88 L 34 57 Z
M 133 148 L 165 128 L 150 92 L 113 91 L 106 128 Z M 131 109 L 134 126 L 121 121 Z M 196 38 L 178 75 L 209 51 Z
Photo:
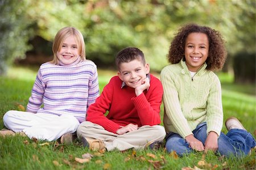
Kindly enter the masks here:
M 209 51 L 205 61 L 207 69 L 211 71 L 222 69 L 227 55 L 222 35 L 210 27 L 199 26 L 195 23 L 186 24 L 178 30 L 169 47 L 168 61 L 171 64 L 176 64 L 181 59 L 185 59 L 185 41 L 188 35 L 193 32 L 204 33 L 208 37 Z

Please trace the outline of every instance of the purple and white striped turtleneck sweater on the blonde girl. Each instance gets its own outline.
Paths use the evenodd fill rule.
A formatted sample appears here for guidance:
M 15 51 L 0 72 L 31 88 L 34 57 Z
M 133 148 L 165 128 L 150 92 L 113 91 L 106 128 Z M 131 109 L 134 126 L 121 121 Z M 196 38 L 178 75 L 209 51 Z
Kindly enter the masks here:
M 73 115 L 81 123 L 99 93 L 97 67 L 92 61 L 44 63 L 36 76 L 27 111 Z

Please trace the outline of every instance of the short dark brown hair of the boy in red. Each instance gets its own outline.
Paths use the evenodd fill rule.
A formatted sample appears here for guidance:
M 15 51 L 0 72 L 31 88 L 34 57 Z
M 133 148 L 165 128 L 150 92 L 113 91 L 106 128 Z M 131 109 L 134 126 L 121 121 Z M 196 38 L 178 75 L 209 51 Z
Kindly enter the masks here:
M 115 65 L 119 69 L 121 63 L 129 63 L 135 59 L 141 61 L 143 65 L 146 64 L 144 53 L 139 48 L 127 47 L 119 51 L 117 56 L 115 56 Z

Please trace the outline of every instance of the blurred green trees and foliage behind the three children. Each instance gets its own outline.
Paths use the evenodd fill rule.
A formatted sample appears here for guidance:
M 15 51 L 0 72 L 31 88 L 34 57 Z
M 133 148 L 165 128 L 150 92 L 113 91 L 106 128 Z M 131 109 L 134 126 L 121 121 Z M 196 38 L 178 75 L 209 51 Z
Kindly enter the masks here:
M 51 60 L 52 40 L 65 26 L 82 32 L 86 57 L 99 68 L 114 68 L 115 54 L 136 46 L 151 70 L 159 72 L 168 64 L 168 47 L 177 29 L 195 22 L 224 36 L 228 50 L 224 71 L 234 72 L 236 81 L 250 74 L 248 81 L 255 82 L 255 4 L 254 0 L 0 0 L 0 74 L 14 61 Z

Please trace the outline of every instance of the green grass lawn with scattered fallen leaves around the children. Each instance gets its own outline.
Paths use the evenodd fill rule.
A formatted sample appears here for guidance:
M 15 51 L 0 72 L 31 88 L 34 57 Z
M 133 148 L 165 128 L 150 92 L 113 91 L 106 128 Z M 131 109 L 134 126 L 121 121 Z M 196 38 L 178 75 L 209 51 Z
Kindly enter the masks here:
M 19 110 L 27 105 L 38 68 L 11 68 L 0 76 L 0 128 L 8 110 Z M 98 70 L 100 90 L 115 72 Z M 158 75 L 159 76 L 159 75 Z M 255 137 L 255 85 L 234 85 L 233 77 L 218 73 L 222 82 L 224 120 L 235 116 Z M 161 115 L 163 115 L 163 106 Z M 225 125 L 223 132 L 227 132 Z M 93 157 L 80 163 L 82 155 Z M 242 158 L 222 157 L 197 152 L 185 157 L 159 151 L 94 152 L 81 146 L 77 140 L 71 146 L 56 142 L 31 140 L 16 135 L 0 137 L 0 169 L 256 169 L 255 150 Z M 84 159 L 85 160 L 85 159 Z

